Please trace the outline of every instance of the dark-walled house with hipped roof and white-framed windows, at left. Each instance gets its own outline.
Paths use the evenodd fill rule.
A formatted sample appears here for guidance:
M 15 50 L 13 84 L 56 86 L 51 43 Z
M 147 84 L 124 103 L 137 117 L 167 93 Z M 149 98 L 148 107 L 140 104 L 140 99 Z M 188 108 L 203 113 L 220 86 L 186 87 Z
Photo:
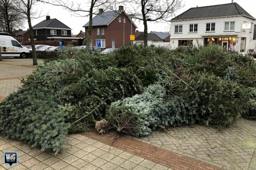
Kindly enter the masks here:
M 71 37 L 71 28 L 57 20 L 46 16 L 46 20 L 33 26 L 34 39 L 36 41 L 76 41 L 79 38 Z

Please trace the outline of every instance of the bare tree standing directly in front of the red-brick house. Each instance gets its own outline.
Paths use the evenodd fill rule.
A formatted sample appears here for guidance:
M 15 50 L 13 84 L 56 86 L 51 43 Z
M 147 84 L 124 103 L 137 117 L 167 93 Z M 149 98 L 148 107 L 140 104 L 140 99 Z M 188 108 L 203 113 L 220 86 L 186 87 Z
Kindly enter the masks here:
M 86 45 L 86 50 L 89 50 L 90 40 L 92 35 L 92 24 L 93 24 L 93 14 L 98 14 L 98 8 L 102 8 L 103 11 L 106 9 L 111 9 L 111 6 L 117 2 L 117 0 L 88 0 L 82 3 L 74 4 L 73 1 L 68 0 L 40 0 L 41 2 L 63 7 L 63 9 L 67 9 L 69 12 L 73 12 L 75 16 L 79 17 L 87 17 L 89 16 L 89 26 L 88 26 L 88 34 L 83 42 L 83 45 Z M 89 4 L 89 6 L 88 6 Z M 84 8 L 85 7 L 85 8 Z

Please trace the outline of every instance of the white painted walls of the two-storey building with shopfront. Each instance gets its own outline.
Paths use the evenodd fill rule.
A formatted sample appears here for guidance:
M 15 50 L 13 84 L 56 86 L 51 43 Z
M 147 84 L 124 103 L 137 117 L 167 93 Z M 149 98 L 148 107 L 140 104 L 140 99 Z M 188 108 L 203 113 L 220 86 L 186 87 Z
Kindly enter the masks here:
M 225 22 L 235 22 L 234 31 L 224 31 Z M 219 37 L 237 37 L 238 45 L 236 45 L 237 51 L 240 48 L 240 36 L 246 37 L 246 49 L 245 53 L 248 52 L 250 47 L 250 41 L 253 38 L 253 29 L 245 30 L 241 32 L 241 25 L 243 22 L 254 23 L 253 19 L 246 18 L 243 16 L 235 17 L 223 17 L 223 18 L 209 18 L 209 19 L 196 19 L 196 20 L 183 20 L 183 21 L 173 21 L 171 22 L 171 48 L 178 47 L 178 40 L 182 39 L 192 39 L 193 44 L 197 45 L 196 39 L 199 41 L 199 44 L 204 45 L 204 38 L 219 36 Z M 215 23 L 215 31 L 206 32 L 206 23 Z M 197 32 L 189 32 L 189 24 L 198 24 Z M 182 25 L 182 33 L 174 33 L 175 25 Z M 252 26 L 254 28 L 254 26 Z M 209 36 L 207 36 L 209 35 Z M 232 36 L 231 36 L 232 35 Z M 172 43 L 174 42 L 174 43 Z

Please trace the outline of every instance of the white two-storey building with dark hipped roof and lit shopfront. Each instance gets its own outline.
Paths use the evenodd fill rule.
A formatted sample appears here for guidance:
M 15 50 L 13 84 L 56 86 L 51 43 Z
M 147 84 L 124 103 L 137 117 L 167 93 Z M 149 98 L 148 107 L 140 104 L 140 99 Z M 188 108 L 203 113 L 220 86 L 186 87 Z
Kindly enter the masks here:
M 170 20 L 171 48 L 215 43 L 245 54 L 253 40 L 254 21 L 237 3 L 190 8 Z M 241 29 L 245 22 L 249 30 Z

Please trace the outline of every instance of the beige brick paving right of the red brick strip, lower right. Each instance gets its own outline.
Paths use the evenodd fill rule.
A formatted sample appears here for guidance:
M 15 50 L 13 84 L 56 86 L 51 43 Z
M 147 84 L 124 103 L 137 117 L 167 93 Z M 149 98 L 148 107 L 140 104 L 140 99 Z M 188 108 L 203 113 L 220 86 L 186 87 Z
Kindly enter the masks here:
M 169 132 L 178 140 L 158 131 L 149 136 L 128 137 L 223 169 L 256 170 L 255 120 L 241 118 L 219 132 L 204 125 L 171 127 Z

